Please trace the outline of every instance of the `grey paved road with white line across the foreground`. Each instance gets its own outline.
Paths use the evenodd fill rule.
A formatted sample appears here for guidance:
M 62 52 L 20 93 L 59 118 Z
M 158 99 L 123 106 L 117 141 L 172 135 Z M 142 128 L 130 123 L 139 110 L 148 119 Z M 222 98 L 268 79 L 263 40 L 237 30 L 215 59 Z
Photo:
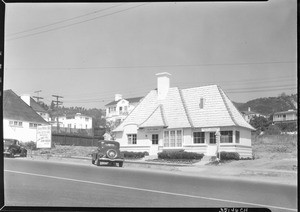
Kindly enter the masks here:
M 297 211 L 295 186 L 21 158 L 5 158 L 4 189 L 6 206 L 268 207 Z

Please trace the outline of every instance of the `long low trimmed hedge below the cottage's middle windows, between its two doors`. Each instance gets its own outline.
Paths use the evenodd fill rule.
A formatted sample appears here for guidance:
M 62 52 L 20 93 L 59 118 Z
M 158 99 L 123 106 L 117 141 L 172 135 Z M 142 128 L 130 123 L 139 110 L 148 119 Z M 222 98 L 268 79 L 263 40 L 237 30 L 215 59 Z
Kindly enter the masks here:
M 204 154 L 181 151 L 162 151 L 157 154 L 159 159 L 192 159 L 201 160 Z

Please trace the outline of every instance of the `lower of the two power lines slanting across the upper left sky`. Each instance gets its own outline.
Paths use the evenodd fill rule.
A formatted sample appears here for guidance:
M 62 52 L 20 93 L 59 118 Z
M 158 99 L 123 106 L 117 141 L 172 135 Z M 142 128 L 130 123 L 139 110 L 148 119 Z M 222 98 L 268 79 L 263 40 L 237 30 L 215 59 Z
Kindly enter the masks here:
M 145 3 L 145 4 L 140 4 L 140 5 L 137 5 L 137 6 L 129 7 L 129 8 L 123 9 L 123 10 L 119 10 L 119 11 L 117 11 L 117 12 L 109 13 L 109 14 L 102 15 L 102 16 L 97 16 L 97 17 L 95 17 L 95 18 L 87 19 L 87 20 L 80 21 L 80 22 L 76 22 L 76 23 L 73 23 L 73 24 L 69 24 L 69 25 L 65 25 L 65 26 L 61 26 L 61 27 L 57 27 L 57 28 L 53 28 L 53 29 L 49 29 L 49 30 L 37 32 L 37 33 L 32 33 L 32 34 L 20 36 L 20 37 L 17 37 L 17 38 L 7 39 L 6 41 L 18 40 L 18 39 L 25 38 L 25 37 L 30 37 L 30 36 L 34 36 L 34 35 L 38 35 L 38 34 L 50 32 L 50 31 L 54 31 L 54 30 L 58 30 L 58 29 L 67 28 L 67 27 L 70 27 L 70 26 L 74 26 L 74 25 L 77 25 L 77 24 L 84 23 L 84 22 L 88 22 L 88 21 L 92 21 L 92 20 L 95 20 L 95 19 L 99 19 L 99 18 L 111 16 L 111 15 L 114 15 L 114 14 L 117 14 L 117 13 L 125 12 L 125 11 L 127 11 L 127 10 L 131 10 L 131 9 L 134 9 L 134 8 L 137 8 L 137 7 L 141 7 L 141 6 L 144 6 L 144 5 L 146 5 L 146 4 L 149 4 L 149 3 Z

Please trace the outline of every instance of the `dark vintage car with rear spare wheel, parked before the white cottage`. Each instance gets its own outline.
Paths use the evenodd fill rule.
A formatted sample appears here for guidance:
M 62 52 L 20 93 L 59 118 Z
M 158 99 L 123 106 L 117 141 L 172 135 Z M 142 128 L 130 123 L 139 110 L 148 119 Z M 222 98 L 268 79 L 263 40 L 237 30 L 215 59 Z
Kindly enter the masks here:
M 123 166 L 124 156 L 120 152 L 120 144 L 116 141 L 99 141 L 98 148 L 92 153 L 92 164 L 100 166 L 100 163 L 108 162 L 109 165 L 119 164 Z

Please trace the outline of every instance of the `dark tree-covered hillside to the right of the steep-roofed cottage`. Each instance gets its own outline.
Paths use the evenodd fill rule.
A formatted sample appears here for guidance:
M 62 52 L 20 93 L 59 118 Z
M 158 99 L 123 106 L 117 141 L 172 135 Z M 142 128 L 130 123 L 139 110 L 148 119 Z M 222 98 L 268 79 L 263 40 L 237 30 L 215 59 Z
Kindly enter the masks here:
M 251 111 L 261 113 L 263 115 L 270 115 L 275 112 L 287 111 L 290 109 L 297 109 L 297 94 L 285 95 L 278 97 L 258 98 L 246 103 L 235 103 L 239 111 L 247 111 L 250 107 Z

